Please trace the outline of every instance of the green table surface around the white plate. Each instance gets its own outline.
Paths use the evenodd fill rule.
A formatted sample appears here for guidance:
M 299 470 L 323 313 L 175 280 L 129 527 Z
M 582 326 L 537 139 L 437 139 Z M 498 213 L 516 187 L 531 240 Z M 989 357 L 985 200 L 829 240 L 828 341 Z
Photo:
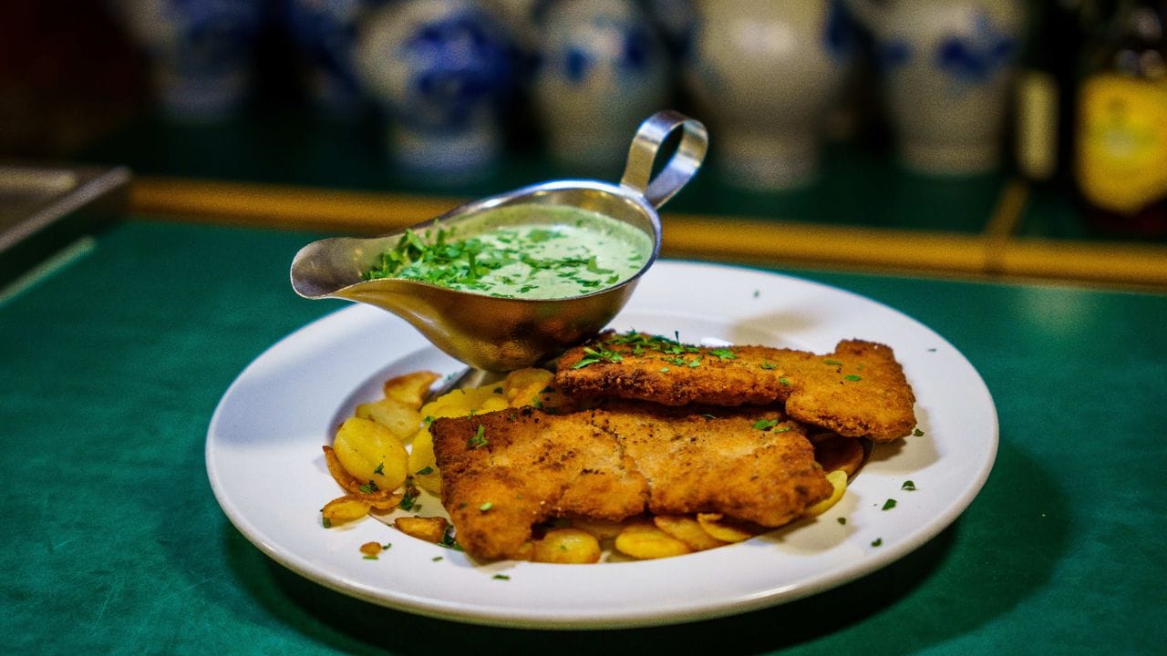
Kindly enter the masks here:
M 837 656 L 1167 644 L 1167 295 L 792 272 L 896 307 L 967 355 L 1001 427 L 978 498 L 887 568 L 784 606 L 673 627 L 508 630 L 326 589 L 271 561 L 215 502 L 203 448 L 221 395 L 266 347 L 337 307 L 288 286 L 293 253 L 314 237 L 126 218 L 0 294 L 0 649 Z

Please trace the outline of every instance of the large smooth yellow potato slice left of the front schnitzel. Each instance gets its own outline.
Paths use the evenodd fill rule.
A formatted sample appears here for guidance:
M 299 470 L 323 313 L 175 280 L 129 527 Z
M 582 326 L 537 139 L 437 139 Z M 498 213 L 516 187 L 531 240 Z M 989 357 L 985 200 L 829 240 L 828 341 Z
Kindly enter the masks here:
M 350 417 L 333 440 L 333 449 L 344 469 L 369 489 L 394 490 L 405 483 L 408 454 L 392 431 L 371 419 Z

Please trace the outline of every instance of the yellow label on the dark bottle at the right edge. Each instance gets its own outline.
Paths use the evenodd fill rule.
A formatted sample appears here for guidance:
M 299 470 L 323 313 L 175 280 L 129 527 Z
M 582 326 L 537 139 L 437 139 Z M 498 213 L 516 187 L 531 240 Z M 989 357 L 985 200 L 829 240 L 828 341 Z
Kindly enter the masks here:
M 1096 75 L 1079 112 L 1078 183 L 1090 202 L 1132 212 L 1167 195 L 1167 82 Z

